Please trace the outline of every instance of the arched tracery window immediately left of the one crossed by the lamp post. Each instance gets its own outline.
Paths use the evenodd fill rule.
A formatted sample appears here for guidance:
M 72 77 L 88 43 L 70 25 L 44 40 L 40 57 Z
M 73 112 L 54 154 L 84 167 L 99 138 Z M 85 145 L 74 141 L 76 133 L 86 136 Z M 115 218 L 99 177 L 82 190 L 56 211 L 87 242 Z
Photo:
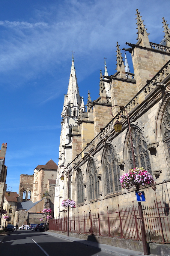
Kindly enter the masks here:
M 120 167 L 118 165 L 117 154 L 112 146 L 109 146 L 106 151 L 104 158 L 104 172 L 107 194 L 121 190 L 121 184 L 119 182 Z

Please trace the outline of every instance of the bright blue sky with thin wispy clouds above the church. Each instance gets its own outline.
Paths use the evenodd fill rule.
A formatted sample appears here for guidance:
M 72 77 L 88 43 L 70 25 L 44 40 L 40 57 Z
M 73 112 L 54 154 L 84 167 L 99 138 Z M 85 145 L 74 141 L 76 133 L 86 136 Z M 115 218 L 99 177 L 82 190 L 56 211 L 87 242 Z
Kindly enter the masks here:
M 33 174 L 50 159 L 58 163 L 71 51 L 86 104 L 88 90 L 92 100 L 98 98 L 104 57 L 109 75 L 116 72 L 116 42 L 121 49 L 137 42 L 136 8 L 150 42 L 160 43 L 169 7 L 169 0 L 1 0 L 0 144 L 7 142 L 6 182 L 12 191 L 18 192 L 20 174 Z M 129 53 L 127 58 L 133 72 Z

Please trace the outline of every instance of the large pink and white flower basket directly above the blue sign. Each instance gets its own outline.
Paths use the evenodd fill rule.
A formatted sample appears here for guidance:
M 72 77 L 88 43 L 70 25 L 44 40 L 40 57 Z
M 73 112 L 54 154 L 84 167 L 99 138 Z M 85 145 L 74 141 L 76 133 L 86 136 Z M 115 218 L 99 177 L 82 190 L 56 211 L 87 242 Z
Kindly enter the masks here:
M 130 169 L 129 172 L 120 176 L 119 180 L 122 188 L 127 189 L 128 191 L 130 191 L 133 186 L 137 185 L 139 188 L 155 185 L 152 175 L 143 167 Z

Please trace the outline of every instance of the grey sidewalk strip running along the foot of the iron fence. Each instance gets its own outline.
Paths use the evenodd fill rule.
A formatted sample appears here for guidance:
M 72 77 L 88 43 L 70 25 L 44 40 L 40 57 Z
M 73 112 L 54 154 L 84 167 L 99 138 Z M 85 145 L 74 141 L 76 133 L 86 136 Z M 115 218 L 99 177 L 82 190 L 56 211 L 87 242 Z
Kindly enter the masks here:
M 106 253 L 110 253 L 114 256 L 135 256 L 135 255 L 144 256 L 143 252 L 141 252 L 141 251 L 127 250 L 127 249 L 124 249 L 124 248 L 119 248 L 119 247 L 115 247 L 115 246 L 111 246 L 111 245 L 105 245 L 105 244 L 100 244 L 100 243 L 97 243 L 97 242 L 91 242 L 91 241 L 83 240 L 83 239 L 80 239 L 80 238 L 75 238 L 73 236 L 65 236 L 65 235 L 61 235 L 61 234 L 57 234 L 57 233 L 52 233 L 52 232 L 49 232 L 49 231 L 42 232 L 42 234 L 48 234 L 50 236 L 56 236 L 58 238 L 65 239 L 65 240 L 70 241 L 70 242 L 81 243 L 85 246 L 97 247 L 97 248 L 100 248 L 101 251 L 106 252 Z M 154 254 L 149 254 L 149 255 L 150 256 L 156 256 Z

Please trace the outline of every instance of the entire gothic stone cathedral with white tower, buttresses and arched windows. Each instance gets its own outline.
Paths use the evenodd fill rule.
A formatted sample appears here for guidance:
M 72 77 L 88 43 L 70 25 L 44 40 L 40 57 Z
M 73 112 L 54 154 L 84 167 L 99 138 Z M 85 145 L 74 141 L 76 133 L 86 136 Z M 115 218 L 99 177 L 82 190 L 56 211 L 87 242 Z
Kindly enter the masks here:
M 71 215 L 136 202 L 135 188 L 128 192 L 119 183 L 119 177 L 133 167 L 133 160 L 127 119 L 120 118 L 120 133 L 113 127 L 116 119 L 111 108 L 115 105 L 128 112 L 136 166 L 153 175 L 157 199 L 170 204 L 170 29 L 163 18 L 164 39 L 160 44 L 152 43 L 138 10 L 136 19 L 138 41 L 127 43 L 129 48 L 125 49 L 131 52 L 134 73 L 130 73 L 126 56 L 125 67 L 117 42 L 117 72 L 109 76 L 105 62 L 104 76 L 100 72 L 100 96 L 91 101 L 88 93 L 87 109 L 79 95 L 72 59 L 61 113 L 55 218 L 63 216 L 61 202 L 68 197 L 76 201 Z M 112 108 L 114 116 L 117 111 L 119 107 Z M 122 114 L 126 116 L 124 111 Z M 154 202 L 152 188 L 142 190 L 146 203 Z

